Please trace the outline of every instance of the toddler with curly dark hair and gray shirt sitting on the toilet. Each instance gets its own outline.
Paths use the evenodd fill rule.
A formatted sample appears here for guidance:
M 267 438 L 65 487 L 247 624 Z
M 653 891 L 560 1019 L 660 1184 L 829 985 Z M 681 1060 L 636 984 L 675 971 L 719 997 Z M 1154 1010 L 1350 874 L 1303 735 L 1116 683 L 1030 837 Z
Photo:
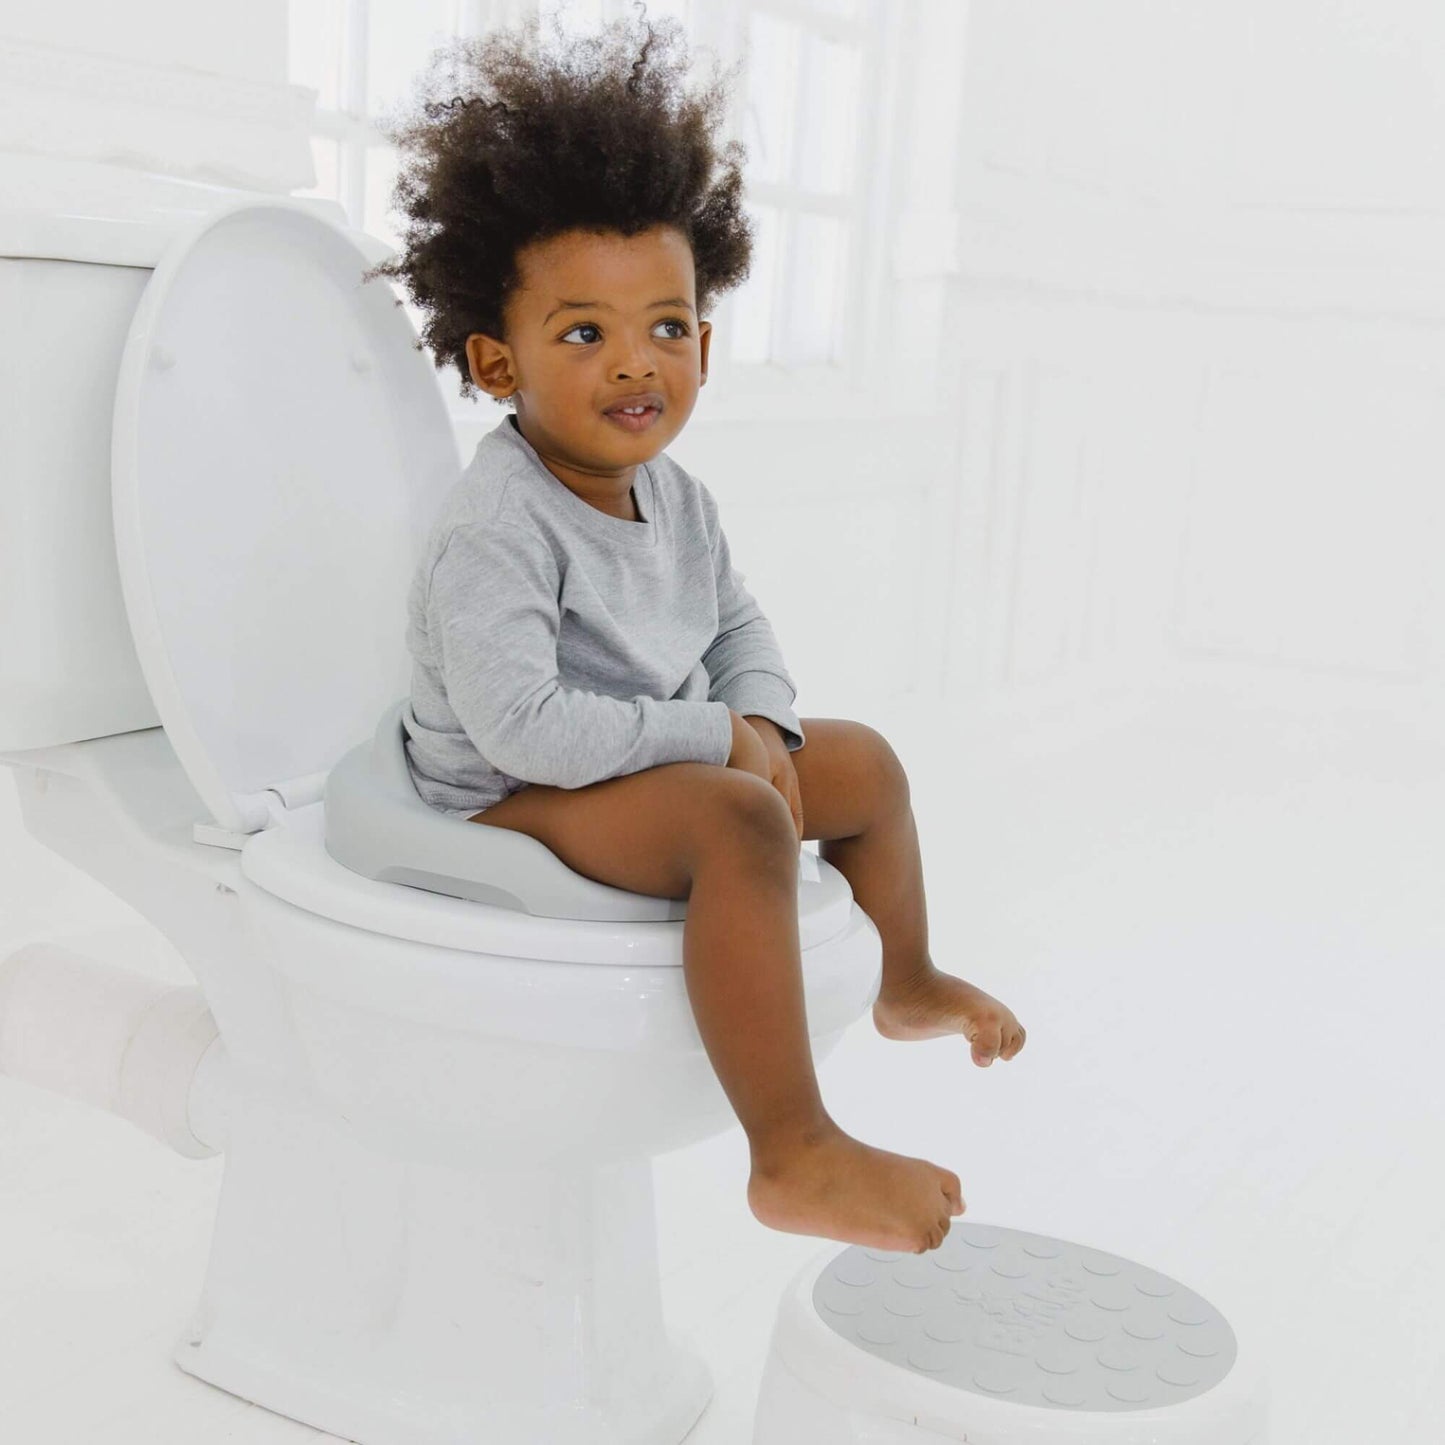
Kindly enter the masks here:
M 879 929 L 884 1038 L 962 1033 L 988 1065 L 1025 1030 L 933 967 L 902 764 L 863 722 L 793 714 L 717 501 L 665 451 L 751 247 L 741 146 L 714 140 L 725 77 L 685 91 L 682 45 L 644 19 L 553 49 L 536 23 L 460 40 L 434 56 L 447 98 L 393 130 L 406 244 L 368 277 L 405 279 L 464 394 L 510 407 L 416 571 L 406 753 L 429 805 L 686 899 L 688 997 L 747 1133 L 753 1214 L 922 1253 L 964 1212 L 959 1181 L 824 1108 L 799 842 L 822 840 Z

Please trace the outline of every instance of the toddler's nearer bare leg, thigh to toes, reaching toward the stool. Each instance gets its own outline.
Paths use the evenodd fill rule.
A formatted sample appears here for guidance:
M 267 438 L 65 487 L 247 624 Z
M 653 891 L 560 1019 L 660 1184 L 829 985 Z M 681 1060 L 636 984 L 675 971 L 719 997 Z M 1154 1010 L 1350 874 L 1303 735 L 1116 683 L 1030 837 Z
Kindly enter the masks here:
M 775 788 L 670 763 L 588 788 L 532 785 L 475 821 L 526 832 L 600 883 L 689 900 L 688 997 L 749 1137 L 762 1222 L 916 1253 L 942 1243 L 962 1212 L 958 1178 L 861 1144 L 824 1108 L 798 948 L 798 834 Z

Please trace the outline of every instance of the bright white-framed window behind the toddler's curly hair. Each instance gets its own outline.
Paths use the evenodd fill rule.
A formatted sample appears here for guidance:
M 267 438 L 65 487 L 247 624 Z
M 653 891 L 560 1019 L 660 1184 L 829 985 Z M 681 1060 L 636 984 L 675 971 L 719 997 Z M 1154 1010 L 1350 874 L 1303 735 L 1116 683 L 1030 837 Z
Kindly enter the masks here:
M 717 308 L 714 367 L 746 409 L 779 389 L 863 389 L 848 357 L 867 350 L 890 241 L 879 127 L 887 16 L 883 0 L 647 0 L 673 16 L 699 72 L 717 56 L 744 68 L 725 133 L 749 150 L 746 204 L 756 224 L 749 279 Z M 400 246 L 390 211 L 397 160 L 376 121 L 412 94 L 432 51 L 527 14 L 565 33 L 595 30 L 631 0 L 290 0 L 290 78 L 316 90 L 316 185 L 298 195 L 337 201 L 350 224 Z M 402 289 L 413 325 L 422 318 Z M 724 340 L 725 338 L 725 340 Z M 722 361 L 722 366 L 718 363 Z

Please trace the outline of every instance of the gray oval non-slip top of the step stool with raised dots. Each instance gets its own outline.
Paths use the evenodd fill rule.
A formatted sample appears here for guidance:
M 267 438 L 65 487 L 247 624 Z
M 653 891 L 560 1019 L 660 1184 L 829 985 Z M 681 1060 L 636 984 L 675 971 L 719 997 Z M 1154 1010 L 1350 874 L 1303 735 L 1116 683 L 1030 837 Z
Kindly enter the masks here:
M 1214 1389 L 1238 1347 L 1157 1270 L 1068 1240 L 958 1224 L 928 1254 L 851 1246 L 818 1276 L 818 1318 L 931 1380 L 1059 1410 L 1143 1410 Z

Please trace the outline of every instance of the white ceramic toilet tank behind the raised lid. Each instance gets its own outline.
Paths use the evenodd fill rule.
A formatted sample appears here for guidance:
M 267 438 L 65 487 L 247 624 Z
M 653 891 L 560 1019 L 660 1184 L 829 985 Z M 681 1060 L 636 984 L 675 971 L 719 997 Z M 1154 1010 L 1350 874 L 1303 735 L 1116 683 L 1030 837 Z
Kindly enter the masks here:
M 17 165 L 0 158 L 0 753 L 160 725 L 116 565 L 116 381 L 172 237 L 246 195 L 95 166 L 77 205 L 74 182 Z M 345 227 L 334 202 L 289 199 Z

